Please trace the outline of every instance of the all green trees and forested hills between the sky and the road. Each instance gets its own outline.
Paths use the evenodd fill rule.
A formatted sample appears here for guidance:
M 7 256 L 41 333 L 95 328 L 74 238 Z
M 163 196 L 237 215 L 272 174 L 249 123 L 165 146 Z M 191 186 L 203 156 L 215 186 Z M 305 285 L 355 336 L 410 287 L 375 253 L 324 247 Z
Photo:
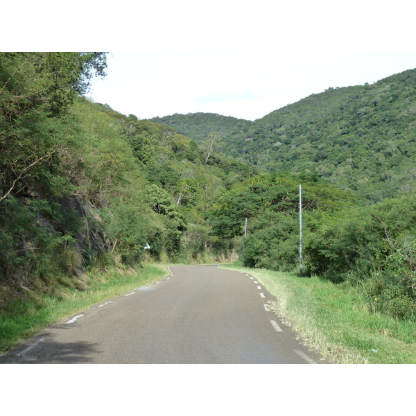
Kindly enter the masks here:
M 104 53 L 0 54 L 2 303 L 146 257 L 294 270 L 302 183 L 306 275 L 415 318 L 416 71 L 251 122 L 125 116 L 83 98 L 105 68 Z

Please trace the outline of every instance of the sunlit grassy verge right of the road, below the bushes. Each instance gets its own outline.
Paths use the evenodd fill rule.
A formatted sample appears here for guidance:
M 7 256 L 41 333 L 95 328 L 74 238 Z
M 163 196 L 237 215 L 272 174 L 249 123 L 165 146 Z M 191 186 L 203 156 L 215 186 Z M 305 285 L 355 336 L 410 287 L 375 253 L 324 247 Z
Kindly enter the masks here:
M 270 306 L 336 363 L 416 363 L 416 323 L 375 313 L 355 288 L 295 273 L 245 271 L 277 297 Z

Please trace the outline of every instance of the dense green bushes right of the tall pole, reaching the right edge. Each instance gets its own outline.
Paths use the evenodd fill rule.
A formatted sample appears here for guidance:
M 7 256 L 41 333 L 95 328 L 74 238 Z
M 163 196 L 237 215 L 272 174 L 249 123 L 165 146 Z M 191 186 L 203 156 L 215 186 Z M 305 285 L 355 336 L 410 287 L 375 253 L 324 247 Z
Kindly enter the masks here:
M 306 263 L 331 281 L 361 287 L 375 310 L 416 312 L 416 205 L 412 198 L 347 209 L 327 218 L 306 243 Z

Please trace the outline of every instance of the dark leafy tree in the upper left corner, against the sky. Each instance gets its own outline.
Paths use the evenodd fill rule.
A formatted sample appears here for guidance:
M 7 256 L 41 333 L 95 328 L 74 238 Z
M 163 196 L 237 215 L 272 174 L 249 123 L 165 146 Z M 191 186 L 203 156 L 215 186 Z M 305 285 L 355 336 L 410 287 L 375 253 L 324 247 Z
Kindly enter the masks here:
M 69 136 L 68 106 L 105 67 L 105 53 L 0 53 L 1 200 L 43 166 L 53 168 Z

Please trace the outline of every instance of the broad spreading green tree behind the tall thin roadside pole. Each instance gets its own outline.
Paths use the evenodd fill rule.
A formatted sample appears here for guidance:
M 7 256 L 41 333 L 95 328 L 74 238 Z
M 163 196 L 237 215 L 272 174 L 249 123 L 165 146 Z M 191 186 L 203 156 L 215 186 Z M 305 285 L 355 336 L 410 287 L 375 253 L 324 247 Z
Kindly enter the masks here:
M 309 180 L 308 180 L 309 179 Z M 352 196 L 310 175 L 263 174 L 225 193 L 211 212 L 212 232 L 226 239 L 243 235 L 248 218 L 244 263 L 251 267 L 291 270 L 299 253 L 299 184 L 310 230 L 324 212 L 352 202 Z M 313 217 L 313 214 L 315 217 Z

